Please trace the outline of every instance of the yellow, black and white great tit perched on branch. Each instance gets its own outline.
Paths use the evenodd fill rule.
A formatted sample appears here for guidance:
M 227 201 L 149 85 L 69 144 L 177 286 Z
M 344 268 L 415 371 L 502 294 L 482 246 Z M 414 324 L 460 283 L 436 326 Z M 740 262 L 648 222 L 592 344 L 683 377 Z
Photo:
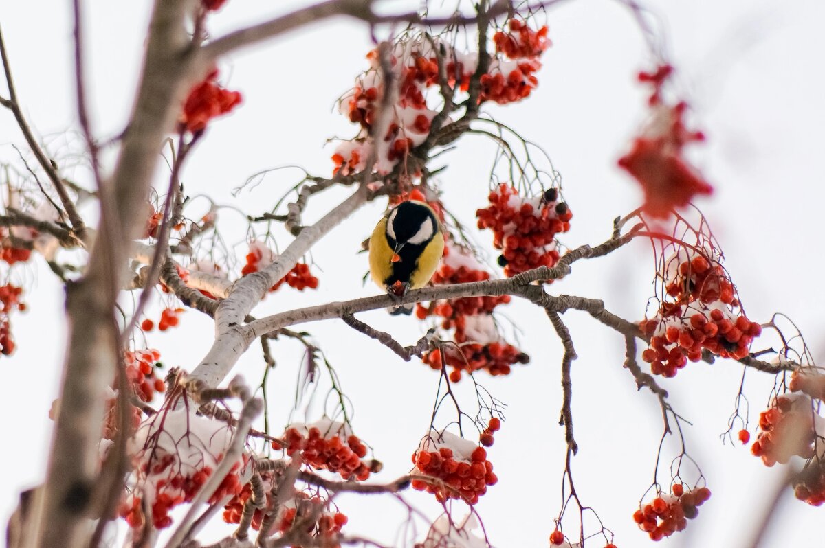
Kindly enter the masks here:
M 436 213 L 424 202 L 408 200 L 392 208 L 370 237 L 370 274 L 387 293 L 403 297 L 430 281 L 444 252 Z M 395 307 L 409 314 L 412 307 Z

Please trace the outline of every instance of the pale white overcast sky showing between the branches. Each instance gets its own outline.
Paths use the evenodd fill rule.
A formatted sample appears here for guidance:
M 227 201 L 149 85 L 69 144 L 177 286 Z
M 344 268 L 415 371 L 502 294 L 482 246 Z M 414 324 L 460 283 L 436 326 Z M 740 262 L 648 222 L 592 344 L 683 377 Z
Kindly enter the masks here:
M 98 135 L 106 138 L 123 129 L 131 105 L 147 2 L 86 3 L 92 114 Z M 304 3 L 279 2 L 276 9 L 264 9 L 262 2 L 229 0 L 210 20 L 210 29 L 219 35 Z M 709 138 L 694 157 L 716 192 L 700 201 L 700 207 L 724 248 L 726 266 L 748 316 L 768 321 L 774 311 L 784 311 L 821 360 L 825 286 L 820 281 L 819 217 L 825 181 L 819 161 L 825 149 L 825 76 L 820 53 L 825 47 L 825 5 L 816 0 L 782 2 L 781 8 L 765 0 L 658 0 L 648 5 L 660 16 L 667 49 L 679 70 L 678 82 Z M 67 138 L 60 133 L 76 127 L 68 6 L 69 2 L 30 0 L 0 7 L 0 25 L 26 114 L 45 140 L 54 143 L 63 143 Z M 616 2 L 565 2 L 549 12 L 549 27 L 554 47 L 544 54 L 534 95 L 521 104 L 487 111 L 538 143 L 562 173 L 565 198 L 574 213 L 572 230 L 563 242 L 599 243 L 609 236 L 613 218 L 639 204 L 639 190 L 615 168 L 615 160 L 643 119 L 645 91 L 635 85 L 634 74 L 647 68 L 648 56 L 629 13 Z M 332 152 L 322 148 L 324 141 L 354 133 L 333 112 L 333 101 L 365 67 L 364 54 L 370 47 L 364 26 L 337 20 L 226 59 L 222 74 L 229 77 L 231 89 L 243 92 L 244 102 L 235 114 L 214 123 L 191 156 L 184 173 L 187 192 L 262 213 L 297 182 L 299 174 L 276 172 L 256 190 L 233 199 L 233 188 L 252 173 L 297 165 L 328 174 Z M 0 112 L 3 162 L 16 158 L 7 144 L 12 142 L 22 143 L 22 138 L 12 116 Z M 493 148 L 479 138 L 464 138 L 459 144 L 441 160 L 449 163 L 441 185 L 447 207 L 472 227 L 475 208 L 486 202 Z M 52 152 L 60 157 L 60 150 L 55 147 Z M 313 199 L 306 220 L 317 218 L 348 192 Z M 355 252 L 383 207 L 370 204 L 314 248 L 312 259 L 322 272 L 318 292 L 282 289 L 267 297 L 255 314 L 377 293 L 372 286 L 362 287 L 366 258 Z M 239 217 L 228 211 L 223 219 L 229 244 L 238 244 L 243 257 L 245 232 Z M 488 234 L 478 240 L 484 246 L 491 241 Z M 282 245 L 286 241 L 281 240 Z M 611 311 L 639 319 L 652 293 L 652 265 L 648 246 L 638 242 L 610 258 L 577 264 L 569 279 L 549 291 L 601 298 Z M 0 358 L 7 383 L 0 399 L 0 415 L 7 417 L 7 449 L 0 460 L 2 516 L 11 513 L 19 489 L 42 478 L 51 428 L 46 413 L 58 390 L 64 349 L 62 289 L 42 261 L 20 274 L 28 280 L 26 302 L 31 311 L 12 318 L 19 349 L 12 358 Z M 509 407 L 507 421 L 488 452 L 500 480 L 477 508 L 494 545 L 546 546 L 559 511 L 563 471 L 563 429 L 557 424 L 561 349 L 546 317 L 534 307 L 518 302 L 503 312 L 521 326 L 521 347 L 532 361 L 507 378 L 479 375 L 479 381 Z M 158 315 L 156 305 L 153 316 Z M 417 340 L 426 329 L 421 322 L 389 318 L 383 311 L 361 319 L 388 330 L 403 344 Z M 621 368 L 624 349 L 619 336 L 589 317 L 570 313 L 564 319 L 579 354 L 573 363 L 573 414 L 580 446 L 573 470 L 578 492 L 616 533 L 618 546 L 645 546 L 649 541 L 631 514 L 652 479 L 661 433 L 658 405 L 646 391 L 637 393 L 632 377 Z M 356 433 L 384 461 L 384 472 L 375 480 L 406 473 L 410 454 L 429 423 L 436 374 L 416 360 L 401 362 L 340 322 L 304 328 L 326 351 L 355 404 Z M 180 328 L 151 334 L 149 344 L 161 350 L 168 365 L 193 368 L 211 335 L 211 321 L 187 311 Z M 758 342 L 754 348 L 760 348 Z M 276 359 L 270 416 L 274 424 L 285 424 L 299 349 L 291 342 L 281 344 Z M 253 346 L 238 371 L 257 383 L 262 365 Z M 741 371 L 734 363 L 690 364 L 675 379 L 662 381 L 676 410 L 694 423 L 687 433 L 688 447 L 713 491 L 700 517 L 686 532 L 663 541 L 665 546 L 747 546 L 761 519 L 761 504 L 780 477 L 778 469 L 766 469 L 747 448 L 719 443 L 733 411 Z M 751 424 L 766 405 L 771 386 L 771 378 L 748 375 Z M 472 398 L 469 383 L 459 388 L 465 398 Z M 309 417 L 314 418 L 317 415 Z M 450 419 L 444 415 L 444 422 Z M 429 495 L 412 494 L 408 500 L 433 516 L 439 508 Z M 380 498 L 342 496 L 338 504 L 351 518 L 347 532 L 387 543 L 394 541 L 406 513 L 401 505 Z M 762 546 L 820 546 L 822 512 L 789 494 Z M 214 532 L 215 537 L 224 531 L 228 533 L 229 527 Z

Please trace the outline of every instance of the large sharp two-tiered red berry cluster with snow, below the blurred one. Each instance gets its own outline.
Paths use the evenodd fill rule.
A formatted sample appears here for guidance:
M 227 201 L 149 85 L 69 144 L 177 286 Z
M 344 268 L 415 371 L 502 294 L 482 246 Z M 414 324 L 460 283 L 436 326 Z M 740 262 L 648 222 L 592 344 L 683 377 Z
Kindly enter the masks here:
M 650 335 L 642 358 L 654 375 L 674 377 L 687 361 L 698 362 L 702 349 L 723 358 L 747 356 L 761 326 L 747 319 L 719 256 L 681 249 L 667 261 L 663 275 L 668 299 L 657 315 L 639 322 Z

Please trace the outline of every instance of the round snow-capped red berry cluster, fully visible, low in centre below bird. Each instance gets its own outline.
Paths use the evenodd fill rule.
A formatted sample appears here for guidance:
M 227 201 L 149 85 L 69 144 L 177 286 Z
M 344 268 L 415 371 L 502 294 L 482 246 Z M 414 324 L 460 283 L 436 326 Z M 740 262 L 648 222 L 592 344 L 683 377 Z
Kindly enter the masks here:
M 427 490 L 439 502 L 464 499 L 467 504 L 476 504 L 487 493 L 488 486 L 498 481 L 484 447 L 449 432 L 433 432 L 424 438 L 413 453 L 413 465 L 414 474 L 437 480 L 413 480 L 413 489 Z

